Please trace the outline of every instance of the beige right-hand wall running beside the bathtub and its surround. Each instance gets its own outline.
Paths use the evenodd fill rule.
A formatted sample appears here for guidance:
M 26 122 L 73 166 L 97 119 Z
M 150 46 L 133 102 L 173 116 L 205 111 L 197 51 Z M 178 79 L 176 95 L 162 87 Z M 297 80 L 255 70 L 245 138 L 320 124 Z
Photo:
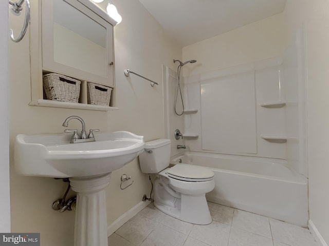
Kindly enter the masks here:
M 310 220 L 329 244 L 329 2 L 290 0 L 284 11 L 288 43 L 306 28 L 307 124 Z

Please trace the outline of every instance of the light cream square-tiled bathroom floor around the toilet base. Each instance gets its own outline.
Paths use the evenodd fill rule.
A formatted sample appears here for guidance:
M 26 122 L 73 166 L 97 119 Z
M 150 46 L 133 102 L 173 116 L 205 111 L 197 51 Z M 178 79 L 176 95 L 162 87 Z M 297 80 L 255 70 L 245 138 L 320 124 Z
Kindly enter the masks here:
M 108 238 L 109 246 L 318 246 L 309 230 L 209 202 L 206 226 L 170 217 L 151 203 Z

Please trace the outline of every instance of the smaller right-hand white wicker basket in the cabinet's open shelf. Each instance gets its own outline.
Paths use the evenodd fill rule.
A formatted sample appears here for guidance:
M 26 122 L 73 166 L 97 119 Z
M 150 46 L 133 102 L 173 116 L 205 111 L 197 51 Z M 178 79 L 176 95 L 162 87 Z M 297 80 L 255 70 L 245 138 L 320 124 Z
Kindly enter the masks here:
M 113 88 L 89 82 L 87 88 L 88 104 L 109 106 Z

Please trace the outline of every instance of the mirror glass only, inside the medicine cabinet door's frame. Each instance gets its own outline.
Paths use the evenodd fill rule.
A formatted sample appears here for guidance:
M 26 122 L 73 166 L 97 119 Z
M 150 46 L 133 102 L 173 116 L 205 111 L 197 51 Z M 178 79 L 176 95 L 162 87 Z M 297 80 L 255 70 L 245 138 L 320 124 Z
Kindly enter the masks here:
M 53 2 L 56 63 L 106 77 L 106 28 L 63 0 Z

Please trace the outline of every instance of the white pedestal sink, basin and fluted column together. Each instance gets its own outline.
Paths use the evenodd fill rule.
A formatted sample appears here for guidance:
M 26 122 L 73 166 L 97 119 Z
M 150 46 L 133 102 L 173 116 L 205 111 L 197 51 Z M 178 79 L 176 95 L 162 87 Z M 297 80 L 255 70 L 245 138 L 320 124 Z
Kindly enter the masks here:
M 119 131 L 70 144 L 68 134 L 17 135 L 15 169 L 26 176 L 67 178 L 77 192 L 75 246 L 107 246 L 105 187 L 111 172 L 144 149 L 143 136 Z

